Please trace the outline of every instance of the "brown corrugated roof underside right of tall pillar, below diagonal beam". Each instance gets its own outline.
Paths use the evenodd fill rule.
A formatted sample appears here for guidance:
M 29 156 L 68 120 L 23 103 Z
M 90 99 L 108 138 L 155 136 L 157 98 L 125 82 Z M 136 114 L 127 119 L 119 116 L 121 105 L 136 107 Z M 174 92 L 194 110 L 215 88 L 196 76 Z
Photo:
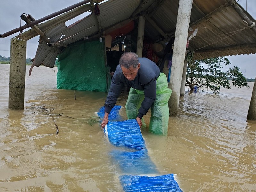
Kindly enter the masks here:
M 203 6 L 209 5 L 204 4 Z M 190 42 L 191 47 L 197 52 L 194 59 L 256 53 L 255 48 L 228 50 L 230 46 L 256 43 L 255 30 L 245 29 L 246 23 L 243 22 L 233 6 L 228 3 L 224 6 L 221 5 L 209 18 L 206 18 L 197 24 L 198 34 Z M 254 19 L 252 21 L 255 22 Z M 226 48 L 226 50 L 222 49 L 217 52 L 217 48 Z M 200 52 L 205 53 L 201 54 Z

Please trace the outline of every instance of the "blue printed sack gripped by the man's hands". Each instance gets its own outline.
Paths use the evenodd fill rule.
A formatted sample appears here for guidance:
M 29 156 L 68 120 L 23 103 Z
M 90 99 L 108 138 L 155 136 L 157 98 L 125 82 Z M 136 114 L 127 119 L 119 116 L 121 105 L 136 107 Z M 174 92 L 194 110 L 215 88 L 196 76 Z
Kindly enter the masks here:
M 108 140 L 115 146 L 124 146 L 137 150 L 145 148 L 145 141 L 136 119 L 108 121 L 104 131 L 108 136 Z

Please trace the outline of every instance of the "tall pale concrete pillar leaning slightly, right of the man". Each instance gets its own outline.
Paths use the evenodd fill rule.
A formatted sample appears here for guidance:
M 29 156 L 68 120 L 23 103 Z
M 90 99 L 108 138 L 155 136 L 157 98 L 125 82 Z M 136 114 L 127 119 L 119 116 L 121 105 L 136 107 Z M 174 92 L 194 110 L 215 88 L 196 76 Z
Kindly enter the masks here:
M 172 90 L 171 98 L 168 102 L 170 116 L 177 116 L 178 112 L 180 86 L 185 60 L 192 3 L 193 0 L 180 0 L 179 2 L 169 86 L 169 88 Z

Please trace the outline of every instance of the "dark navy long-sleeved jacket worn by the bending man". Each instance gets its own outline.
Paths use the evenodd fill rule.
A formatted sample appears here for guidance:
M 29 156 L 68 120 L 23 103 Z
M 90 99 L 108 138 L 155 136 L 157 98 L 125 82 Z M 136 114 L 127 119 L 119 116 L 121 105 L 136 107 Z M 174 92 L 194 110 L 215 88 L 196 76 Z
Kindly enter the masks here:
M 105 112 L 110 113 L 111 109 L 115 106 L 124 85 L 144 91 L 145 98 L 141 103 L 137 117 L 141 119 L 143 115 L 148 112 L 149 108 L 156 100 L 156 80 L 160 76 L 160 70 L 153 61 L 147 58 L 139 58 L 139 63 L 140 69 L 133 81 L 126 79 L 120 64 L 117 65 L 104 104 Z

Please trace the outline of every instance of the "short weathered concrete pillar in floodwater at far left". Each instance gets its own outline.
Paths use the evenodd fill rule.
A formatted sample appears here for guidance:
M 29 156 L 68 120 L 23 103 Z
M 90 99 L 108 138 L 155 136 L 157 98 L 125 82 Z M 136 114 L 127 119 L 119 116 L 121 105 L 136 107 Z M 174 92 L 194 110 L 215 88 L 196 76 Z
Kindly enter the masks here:
M 26 44 L 24 40 L 11 39 L 9 109 L 24 109 Z

